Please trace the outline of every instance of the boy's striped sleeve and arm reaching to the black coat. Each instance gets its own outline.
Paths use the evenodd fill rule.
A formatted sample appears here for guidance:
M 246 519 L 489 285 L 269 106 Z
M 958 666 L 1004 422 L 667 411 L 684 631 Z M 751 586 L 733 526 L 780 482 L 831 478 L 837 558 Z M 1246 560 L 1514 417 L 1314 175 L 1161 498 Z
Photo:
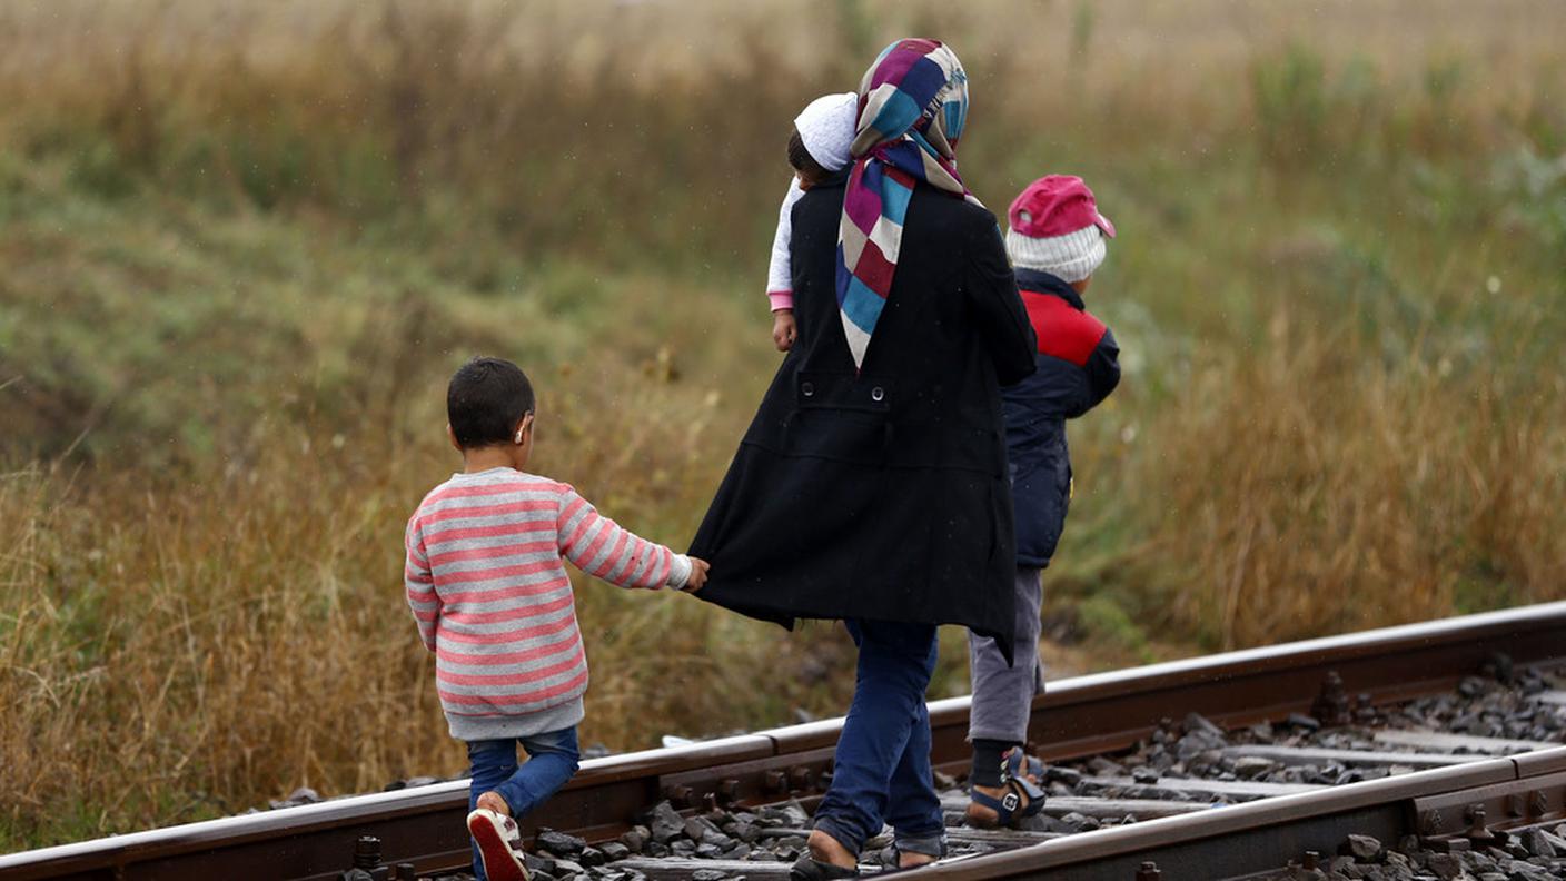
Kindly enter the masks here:
M 556 517 L 561 555 L 578 569 L 622 588 L 698 588 L 706 564 L 647 541 L 600 514 L 570 486 L 562 484 Z M 697 572 L 700 571 L 700 577 Z

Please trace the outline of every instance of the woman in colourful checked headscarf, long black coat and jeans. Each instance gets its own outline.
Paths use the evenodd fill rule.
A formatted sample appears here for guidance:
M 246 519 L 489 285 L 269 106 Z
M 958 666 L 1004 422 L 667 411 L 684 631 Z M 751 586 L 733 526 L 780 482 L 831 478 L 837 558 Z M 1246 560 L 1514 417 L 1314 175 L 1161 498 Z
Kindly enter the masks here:
M 955 177 L 965 99 L 933 41 L 899 41 L 866 72 L 850 174 L 792 212 L 799 339 L 691 547 L 713 564 L 703 599 L 789 627 L 844 619 L 860 646 L 805 876 L 852 867 L 883 821 L 907 865 L 940 856 L 935 625 L 1010 651 L 999 386 L 1034 372 L 1035 345 L 994 218 Z

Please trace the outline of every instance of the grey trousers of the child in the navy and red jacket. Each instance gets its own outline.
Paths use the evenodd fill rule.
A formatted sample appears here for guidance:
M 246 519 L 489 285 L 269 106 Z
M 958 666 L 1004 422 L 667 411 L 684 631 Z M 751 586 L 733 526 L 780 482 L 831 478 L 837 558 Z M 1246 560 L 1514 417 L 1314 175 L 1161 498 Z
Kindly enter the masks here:
M 994 640 L 968 632 L 968 671 L 974 690 L 968 740 L 1027 743 L 1034 696 L 1045 691 L 1045 665 L 1038 660 L 1040 572 L 1016 571 L 1016 622 L 1012 630 L 1016 663 L 1007 666 Z

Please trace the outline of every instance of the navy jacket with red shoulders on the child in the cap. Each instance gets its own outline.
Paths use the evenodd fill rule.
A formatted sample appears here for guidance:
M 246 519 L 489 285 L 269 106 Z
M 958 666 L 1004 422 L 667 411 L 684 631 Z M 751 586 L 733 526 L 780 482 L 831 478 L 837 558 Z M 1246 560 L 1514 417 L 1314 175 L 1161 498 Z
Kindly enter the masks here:
M 1120 384 L 1120 346 L 1070 284 L 1019 268 L 1016 287 L 1038 337 L 1038 370 L 1001 390 L 1016 564 L 1043 567 L 1055 553 L 1071 503 L 1065 420 L 1093 409 Z

